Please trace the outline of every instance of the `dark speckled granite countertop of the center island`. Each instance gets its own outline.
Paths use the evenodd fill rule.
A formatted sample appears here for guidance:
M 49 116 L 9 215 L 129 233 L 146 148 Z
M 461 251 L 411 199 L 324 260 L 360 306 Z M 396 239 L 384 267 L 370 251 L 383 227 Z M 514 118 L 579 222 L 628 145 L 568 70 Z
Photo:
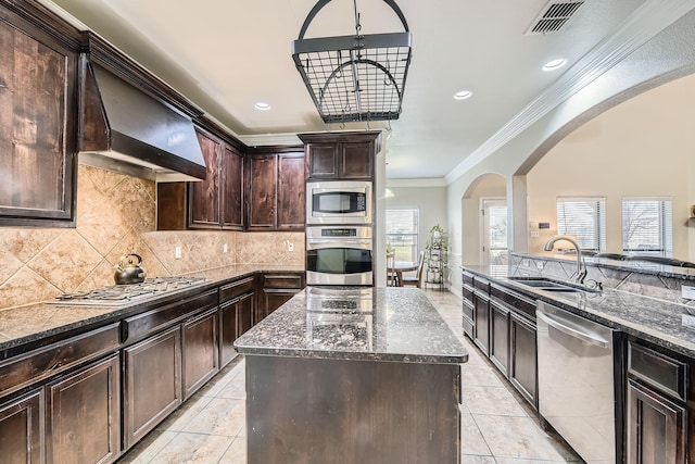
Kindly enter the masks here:
M 417 288 L 370 288 L 369 308 L 359 311 L 315 310 L 312 287 L 237 339 L 245 354 L 463 363 L 468 352 Z M 348 289 L 345 289 L 348 291 Z M 315 298 L 315 297 L 314 297 Z

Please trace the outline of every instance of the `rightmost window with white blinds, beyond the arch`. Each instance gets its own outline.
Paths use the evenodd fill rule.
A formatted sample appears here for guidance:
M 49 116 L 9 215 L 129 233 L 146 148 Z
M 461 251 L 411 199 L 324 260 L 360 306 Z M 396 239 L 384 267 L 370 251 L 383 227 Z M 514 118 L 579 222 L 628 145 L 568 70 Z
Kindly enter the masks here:
M 656 256 L 673 255 L 671 200 L 622 200 L 622 252 Z

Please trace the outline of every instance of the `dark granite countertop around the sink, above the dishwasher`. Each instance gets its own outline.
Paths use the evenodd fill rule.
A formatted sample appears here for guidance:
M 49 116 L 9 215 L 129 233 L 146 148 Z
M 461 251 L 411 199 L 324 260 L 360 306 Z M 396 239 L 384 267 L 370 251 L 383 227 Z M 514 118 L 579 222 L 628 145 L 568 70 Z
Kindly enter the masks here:
M 691 315 L 688 308 L 682 304 L 611 289 L 597 293 L 531 290 L 501 274 L 498 268 L 462 268 L 608 327 L 695 358 L 695 315 Z

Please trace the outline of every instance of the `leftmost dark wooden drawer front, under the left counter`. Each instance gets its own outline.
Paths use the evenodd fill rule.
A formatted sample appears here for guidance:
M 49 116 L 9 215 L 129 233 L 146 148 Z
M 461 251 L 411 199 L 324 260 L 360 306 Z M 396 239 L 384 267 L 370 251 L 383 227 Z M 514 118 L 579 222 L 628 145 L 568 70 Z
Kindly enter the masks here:
M 0 364 L 0 391 L 4 396 L 63 372 L 81 362 L 118 349 L 118 323 L 29 351 Z

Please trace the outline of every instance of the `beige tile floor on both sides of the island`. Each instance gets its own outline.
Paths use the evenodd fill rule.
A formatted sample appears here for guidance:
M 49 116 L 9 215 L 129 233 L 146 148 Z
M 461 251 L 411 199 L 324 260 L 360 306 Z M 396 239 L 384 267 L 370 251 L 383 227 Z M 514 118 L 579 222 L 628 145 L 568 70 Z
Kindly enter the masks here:
M 463 367 L 462 463 L 581 462 L 560 439 L 543 431 L 516 390 L 460 335 L 460 299 L 447 291 L 426 292 L 470 353 Z M 245 464 L 244 402 L 244 361 L 238 356 L 118 464 Z

